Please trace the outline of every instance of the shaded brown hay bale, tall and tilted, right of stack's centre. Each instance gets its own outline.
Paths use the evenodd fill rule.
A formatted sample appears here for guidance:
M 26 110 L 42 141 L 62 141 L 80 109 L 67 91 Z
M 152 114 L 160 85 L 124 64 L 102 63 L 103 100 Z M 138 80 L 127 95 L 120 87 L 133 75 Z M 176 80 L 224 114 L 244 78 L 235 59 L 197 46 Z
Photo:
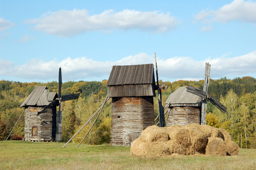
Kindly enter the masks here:
M 204 135 L 203 131 L 192 126 L 185 126 L 190 133 L 192 148 L 195 152 L 204 154 L 205 146 L 207 145 L 207 137 Z

